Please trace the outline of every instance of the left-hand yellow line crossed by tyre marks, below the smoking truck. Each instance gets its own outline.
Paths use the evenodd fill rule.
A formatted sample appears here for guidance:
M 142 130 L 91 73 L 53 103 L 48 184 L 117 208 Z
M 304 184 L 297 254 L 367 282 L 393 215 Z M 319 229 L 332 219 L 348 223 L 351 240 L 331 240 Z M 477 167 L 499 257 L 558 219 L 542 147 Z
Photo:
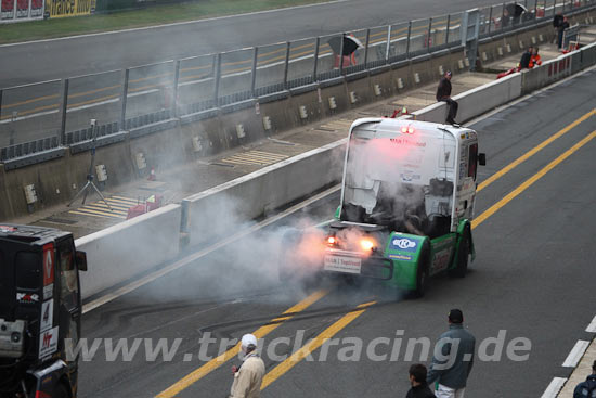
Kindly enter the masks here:
M 297 305 L 293 306 L 291 308 L 287 309 L 282 317 L 272 319 L 268 324 L 259 328 L 257 331 L 255 331 L 252 334 L 257 338 L 263 338 L 269 333 L 274 331 L 277 326 L 282 324 L 282 322 L 291 319 L 296 313 L 303 311 L 314 303 L 319 301 L 321 298 L 325 297 L 329 291 L 322 290 L 316 291 L 306 297 L 303 300 L 298 303 Z M 284 317 L 285 314 L 285 317 Z M 205 377 L 207 374 L 211 373 L 213 370 L 221 367 L 224 362 L 228 360 L 234 358 L 238 355 L 241 344 L 238 343 L 234 348 L 229 349 L 224 354 L 220 355 L 219 357 L 211 359 L 209 362 L 205 363 L 191 374 L 186 375 L 184 378 L 180 380 L 176 384 L 171 385 L 168 389 L 159 393 L 156 398 L 171 398 L 176 397 L 178 394 L 180 394 L 182 390 L 186 389 L 189 386 L 191 386 L 193 383 L 196 383 L 200 378 Z

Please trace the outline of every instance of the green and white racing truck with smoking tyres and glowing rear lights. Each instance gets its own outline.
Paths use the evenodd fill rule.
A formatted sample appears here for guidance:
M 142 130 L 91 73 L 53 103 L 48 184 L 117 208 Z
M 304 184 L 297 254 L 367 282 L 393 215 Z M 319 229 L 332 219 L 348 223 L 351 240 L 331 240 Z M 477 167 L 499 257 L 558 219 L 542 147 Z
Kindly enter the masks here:
M 459 126 L 362 118 L 349 131 L 340 204 L 318 229 L 284 235 L 280 279 L 375 279 L 423 296 L 475 258 L 477 133 Z

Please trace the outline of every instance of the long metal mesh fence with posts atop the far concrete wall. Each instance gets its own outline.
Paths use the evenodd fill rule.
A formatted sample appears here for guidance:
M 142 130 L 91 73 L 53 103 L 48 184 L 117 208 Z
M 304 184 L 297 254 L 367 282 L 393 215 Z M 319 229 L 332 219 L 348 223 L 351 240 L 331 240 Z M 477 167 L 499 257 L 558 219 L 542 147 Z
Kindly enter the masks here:
M 339 82 L 342 76 L 465 46 L 471 27 L 476 40 L 494 38 L 547 23 L 559 11 L 569 14 L 594 7 L 596 0 L 523 0 L 0 89 L 0 162 L 89 140 L 90 118 L 99 120 L 100 136 L 108 136 L 218 108 L 252 106 L 255 99 L 275 100 L 314 89 L 315 84 Z M 347 35 L 359 39 L 362 48 L 353 56 L 339 56 L 328 42 Z

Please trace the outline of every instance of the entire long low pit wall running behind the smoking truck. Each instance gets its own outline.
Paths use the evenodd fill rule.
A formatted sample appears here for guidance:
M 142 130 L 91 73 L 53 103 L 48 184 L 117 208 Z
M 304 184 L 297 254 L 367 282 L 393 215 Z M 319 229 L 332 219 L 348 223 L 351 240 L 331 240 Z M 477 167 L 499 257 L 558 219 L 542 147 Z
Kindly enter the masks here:
M 596 64 L 596 43 L 457 95 L 463 120 L 545 87 Z M 490 101 L 488 101 L 490 99 Z M 464 111 L 465 108 L 465 111 Z M 445 105 L 432 104 L 410 117 L 444 120 Z M 341 179 L 347 139 L 300 154 L 229 181 L 161 209 L 121 222 L 75 242 L 87 252 L 89 271 L 82 277 L 89 298 L 205 245 L 238 226 L 309 196 Z M 182 244 L 179 244 L 181 242 Z

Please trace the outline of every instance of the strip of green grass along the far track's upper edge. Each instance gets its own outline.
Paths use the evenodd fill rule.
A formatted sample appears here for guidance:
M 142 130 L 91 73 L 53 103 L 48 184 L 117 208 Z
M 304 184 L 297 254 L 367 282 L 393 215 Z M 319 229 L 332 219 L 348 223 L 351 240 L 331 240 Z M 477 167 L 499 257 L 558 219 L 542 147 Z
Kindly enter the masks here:
M 154 5 L 143 10 L 119 11 L 111 14 L 3 24 L 0 25 L 0 43 L 161 25 L 325 1 L 328 0 L 198 0 L 179 4 Z

